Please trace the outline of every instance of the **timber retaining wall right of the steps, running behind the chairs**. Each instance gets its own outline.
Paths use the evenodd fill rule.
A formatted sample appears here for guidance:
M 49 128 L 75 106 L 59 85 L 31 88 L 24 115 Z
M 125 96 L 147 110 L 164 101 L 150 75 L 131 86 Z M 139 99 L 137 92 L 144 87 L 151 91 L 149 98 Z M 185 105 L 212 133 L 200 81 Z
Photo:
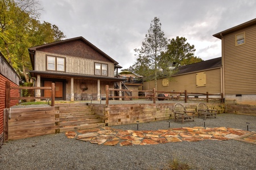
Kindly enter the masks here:
M 169 120 L 174 118 L 174 104 L 88 104 L 106 126 L 136 124 L 139 122 L 151 122 Z M 195 111 L 197 103 L 183 103 L 187 111 Z M 207 103 L 210 109 L 217 109 L 218 113 L 224 113 L 224 103 Z

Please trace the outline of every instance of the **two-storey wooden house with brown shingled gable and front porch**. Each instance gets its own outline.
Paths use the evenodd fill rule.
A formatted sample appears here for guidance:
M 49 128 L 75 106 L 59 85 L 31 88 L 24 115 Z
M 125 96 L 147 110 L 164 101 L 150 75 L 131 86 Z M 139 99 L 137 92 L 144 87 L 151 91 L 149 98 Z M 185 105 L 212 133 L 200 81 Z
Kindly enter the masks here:
M 106 85 L 114 88 L 115 82 L 125 80 L 114 76 L 115 69 L 121 68 L 118 62 L 83 37 L 34 46 L 28 51 L 35 86 L 55 83 L 56 100 L 100 100 Z M 37 90 L 36 96 L 50 93 Z

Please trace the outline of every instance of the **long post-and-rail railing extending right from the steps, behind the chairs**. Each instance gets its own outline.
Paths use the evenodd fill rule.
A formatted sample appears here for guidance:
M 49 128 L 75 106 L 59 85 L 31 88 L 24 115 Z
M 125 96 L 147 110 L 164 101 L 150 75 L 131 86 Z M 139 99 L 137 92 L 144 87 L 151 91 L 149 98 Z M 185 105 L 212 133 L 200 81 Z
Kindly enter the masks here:
M 155 88 L 153 90 L 124 90 L 124 89 L 116 89 L 116 88 L 109 88 L 108 85 L 106 85 L 106 105 L 109 104 L 109 92 L 110 91 L 119 91 L 119 92 L 144 92 L 144 93 L 151 93 L 151 96 L 110 96 L 111 98 L 124 98 L 124 99 L 148 99 L 151 98 L 153 102 L 155 103 L 156 99 L 184 99 L 185 103 L 187 103 L 187 100 L 189 99 L 189 95 L 203 95 L 206 96 L 205 98 L 193 98 L 193 100 L 207 100 L 207 103 L 209 102 L 209 99 L 211 100 L 221 100 L 221 103 L 224 102 L 223 94 L 209 94 L 208 92 L 204 93 L 198 93 L 198 92 L 187 92 L 185 90 L 184 92 L 174 92 L 174 91 L 156 91 Z M 165 96 L 165 97 L 159 97 L 156 94 L 173 94 L 176 96 Z M 209 96 L 220 96 L 219 98 L 209 97 Z

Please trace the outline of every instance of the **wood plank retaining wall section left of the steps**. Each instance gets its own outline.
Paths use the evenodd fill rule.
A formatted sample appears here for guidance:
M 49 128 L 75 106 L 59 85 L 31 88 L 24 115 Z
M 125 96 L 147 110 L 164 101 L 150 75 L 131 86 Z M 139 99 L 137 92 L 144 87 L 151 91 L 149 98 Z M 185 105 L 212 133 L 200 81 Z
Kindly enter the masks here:
M 8 139 L 54 134 L 59 129 L 59 111 L 55 111 L 55 107 L 11 108 L 8 111 Z

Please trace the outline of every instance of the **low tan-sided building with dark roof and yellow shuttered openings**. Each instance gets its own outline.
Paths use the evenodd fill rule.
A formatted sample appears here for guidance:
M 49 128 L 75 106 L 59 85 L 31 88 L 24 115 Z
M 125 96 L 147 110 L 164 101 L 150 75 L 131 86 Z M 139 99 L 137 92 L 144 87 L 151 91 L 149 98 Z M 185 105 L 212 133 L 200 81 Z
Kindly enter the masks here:
M 221 57 L 177 68 L 171 78 L 158 79 L 158 91 L 221 94 Z M 143 82 L 143 90 L 152 90 L 155 80 Z

